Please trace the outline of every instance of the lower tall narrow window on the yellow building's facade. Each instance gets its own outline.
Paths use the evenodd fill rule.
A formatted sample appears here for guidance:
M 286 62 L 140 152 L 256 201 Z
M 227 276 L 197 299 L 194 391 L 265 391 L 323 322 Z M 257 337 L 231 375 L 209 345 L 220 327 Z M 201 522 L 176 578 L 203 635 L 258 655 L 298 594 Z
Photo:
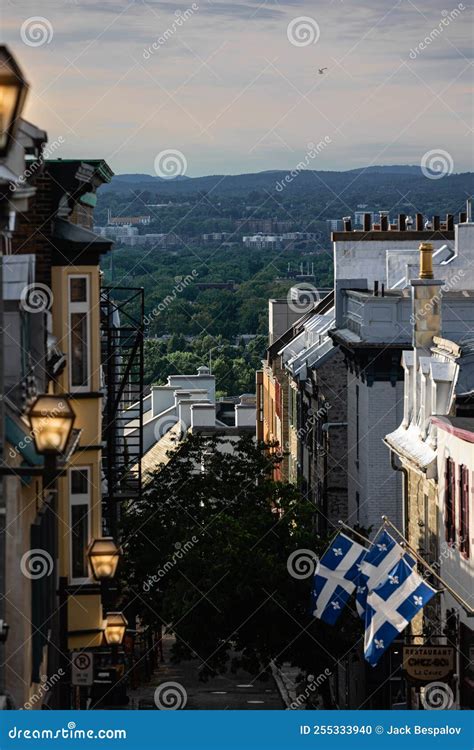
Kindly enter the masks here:
M 89 578 L 87 547 L 90 541 L 89 469 L 71 469 L 71 578 Z

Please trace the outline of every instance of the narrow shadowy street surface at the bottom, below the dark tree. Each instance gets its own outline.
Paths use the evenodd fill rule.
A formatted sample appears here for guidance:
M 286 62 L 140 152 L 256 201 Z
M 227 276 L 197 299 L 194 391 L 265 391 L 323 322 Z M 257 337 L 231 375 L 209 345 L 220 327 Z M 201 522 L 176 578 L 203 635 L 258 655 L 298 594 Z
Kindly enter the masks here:
M 243 670 L 235 674 L 228 672 L 218 675 L 208 682 L 202 682 L 198 675 L 198 660 L 171 662 L 170 653 L 173 638 L 163 641 L 164 663 L 154 673 L 149 683 L 131 690 L 130 708 L 156 710 L 154 695 L 159 685 L 167 682 L 179 683 L 187 694 L 186 709 L 283 709 L 273 677 L 267 680 L 253 680 Z

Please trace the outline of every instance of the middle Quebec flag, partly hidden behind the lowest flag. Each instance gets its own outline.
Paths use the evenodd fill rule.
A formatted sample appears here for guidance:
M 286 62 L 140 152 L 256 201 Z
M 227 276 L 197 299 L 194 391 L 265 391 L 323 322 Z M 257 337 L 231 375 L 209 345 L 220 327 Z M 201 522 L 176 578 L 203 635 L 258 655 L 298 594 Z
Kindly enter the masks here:
M 388 531 L 377 534 L 372 547 L 367 552 L 357 578 L 356 608 L 362 619 L 365 617 L 365 604 L 368 593 L 374 589 L 399 560 L 405 560 L 413 568 L 415 560 Z

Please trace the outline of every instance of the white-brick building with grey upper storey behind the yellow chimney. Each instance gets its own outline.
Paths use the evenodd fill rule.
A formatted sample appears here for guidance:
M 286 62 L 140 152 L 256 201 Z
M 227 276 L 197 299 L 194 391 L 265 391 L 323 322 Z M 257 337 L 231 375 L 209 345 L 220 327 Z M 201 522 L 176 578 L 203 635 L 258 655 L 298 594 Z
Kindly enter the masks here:
M 437 224 L 437 222 L 434 222 Z M 383 444 L 403 420 L 403 350 L 411 347 L 410 280 L 418 246 L 434 247 L 444 282 L 442 335 L 461 341 L 474 327 L 474 224 L 453 229 L 335 232 L 335 328 L 347 362 L 349 523 L 403 524 L 402 476 Z

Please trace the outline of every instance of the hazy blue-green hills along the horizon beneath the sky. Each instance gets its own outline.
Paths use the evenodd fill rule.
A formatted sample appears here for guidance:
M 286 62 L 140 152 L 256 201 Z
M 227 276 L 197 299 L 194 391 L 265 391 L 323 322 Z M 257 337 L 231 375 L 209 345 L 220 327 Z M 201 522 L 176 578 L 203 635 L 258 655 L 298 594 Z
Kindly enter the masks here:
M 228 231 L 242 216 L 291 219 L 294 227 L 340 219 L 361 204 L 367 210 L 423 213 L 425 216 L 464 210 L 474 192 L 472 172 L 425 176 L 419 166 L 371 166 L 345 172 L 275 170 L 240 175 L 207 175 L 163 179 L 146 174 L 122 174 L 99 192 L 96 222 L 116 216 L 152 214 L 151 231 L 171 231 L 179 218 L 180 231 L 194 235 Z M 207 194 L 203 201 L 201 194 Z M 153 204 L 170 203 L 168 212 Z M 179 208 L 179 204 L 184 204 Z M 206 205 L 204 205 L 206 204 Z M 192 207 L 192 210 L 190 209 Z M 146 208 L 145 208 L 146 207 Z M 322 230 L 322 224 L 319 229 Z

